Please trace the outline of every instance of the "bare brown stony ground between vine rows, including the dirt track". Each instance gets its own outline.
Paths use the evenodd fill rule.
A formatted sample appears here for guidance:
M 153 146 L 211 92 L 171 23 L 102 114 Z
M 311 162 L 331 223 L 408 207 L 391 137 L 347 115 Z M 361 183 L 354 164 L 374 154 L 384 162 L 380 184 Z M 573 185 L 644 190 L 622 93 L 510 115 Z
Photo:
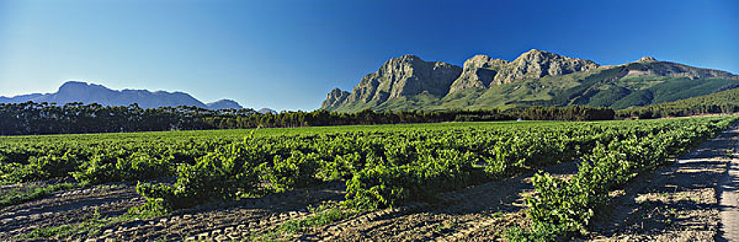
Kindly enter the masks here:
M 640 176 L 613 193 L 584 240 L 713 241 L 732 235 L 719 186 L 729 176 L 739 130 L 704 143 L 674 165 Z M 730 150 L 730 151 L 729 151 Z M 576 173 L 574 162 L 548 167 L 558 176 Z M 47 198 L 0 209 L 0 241 L 18 240 L 37 228 L 47 239 L 287 240 L 287 241 L 495 241 L 513 225 L 524 225 L 524 196 L 531 193 L 525 173 L 445 193 L 437 201 L 364 211 L 320 227 L 285 232 L 283 224 L 316 216 L 316 204 L 344 200 L 345 185 L 324 184 L 262 198 L 211 204 L 144 219 L 121 219 L 144 203 L 135 184 L 106 184 L 58 192 Z M 719 187 L 719 189 L 717 189 Z M 0 187 L 0 191 L 5 189 Z M 723 216 L 721 212 L 723 213 Z M 723 227 L 722 227 L 723 226 Z M 54 230 L 56 229 L 56 230 Z M 59 232 L 61 230 L 61 232 Z M 730 230 L 730 229 L 729 229 Z M 61 237 L 53 237 L 63 235 Z

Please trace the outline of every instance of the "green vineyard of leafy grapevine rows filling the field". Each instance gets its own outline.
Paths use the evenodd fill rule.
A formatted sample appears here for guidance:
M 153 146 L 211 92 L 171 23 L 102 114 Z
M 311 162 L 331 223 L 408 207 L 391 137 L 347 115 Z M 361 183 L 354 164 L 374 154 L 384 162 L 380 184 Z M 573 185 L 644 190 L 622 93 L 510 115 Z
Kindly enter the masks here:
M 140 200 L 126 211 L 90 211 L 92 215 L 73 224 L 29 228 L 3 215 L 8 219 L 2 221 L 0 238 L 117 238 L 125 234 L 115 233 L 115 228 L 132 221 L 167 221 L 214 206 L 259 207 L 254 201 L 331 187 L 338 198 L 313 196 L 294 206 L 299 211 L 295 214 L 306 216 L 241 232 L 219 229 L 206 237 L 168 237 L 321 239 L 319 228 L 375 218 L 382 211 L 423 210 L 432 205 L 419 204 L 443 204 L 449 194 L 527 173 L 533 174 L 533 191 L 525 198 L 525 219 L 506 226 L 497 238 L 571 238 L 587 233 L 614 191 L 736 120 L 448 122 L 7 136 L 0 138 L 3 212 L 65 191 L 111 186 L 129 187 L 126 196 Z M 545 172 L 567 164 L 577 167 L 567 176 Z M 270 230 L 277 232 L 265 232 Z M 426 239 L 454 230 L 444 225 Z M 147 236 L 142 239 L 163 237 Z

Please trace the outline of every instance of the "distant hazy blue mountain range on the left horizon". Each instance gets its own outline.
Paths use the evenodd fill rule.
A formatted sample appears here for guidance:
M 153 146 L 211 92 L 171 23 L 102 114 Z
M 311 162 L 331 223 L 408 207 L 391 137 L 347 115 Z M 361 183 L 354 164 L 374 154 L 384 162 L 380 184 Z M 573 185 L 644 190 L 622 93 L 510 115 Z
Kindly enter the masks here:
M 190 94 L 180 91 L 147 91 L 124 89 L 121 91 L 108 89 L 97 84 L 68 81 L 61 85 L 55 93 L 24 94 L 15 97 L 0 97 L 0 103 L 98 103 L 103 106 L 129 106 L 137 103 L 141 108 L 157 108 L 165 106 L 196 106 L 208 109 L 241 109 L 234 100 L 218 100 L 214 103 L 202 103 Z

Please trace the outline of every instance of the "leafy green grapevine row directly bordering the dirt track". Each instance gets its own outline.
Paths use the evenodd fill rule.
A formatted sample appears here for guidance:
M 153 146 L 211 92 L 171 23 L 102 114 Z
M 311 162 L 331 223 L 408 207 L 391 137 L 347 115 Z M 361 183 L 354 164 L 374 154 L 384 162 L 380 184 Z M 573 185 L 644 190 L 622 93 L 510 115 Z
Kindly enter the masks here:
M 669 122 L 660 132 L 625 136 L 597 145 L 580 162 L 571 179 L 542 173 L 534 176 L 537 195 L 527 199 L 534 226 L 532 235 L 572 235 L 586 229 L 609 193 L 640 173 L 670 162 L 699 142 L 725 130 L 736 118 L 681 119 Z

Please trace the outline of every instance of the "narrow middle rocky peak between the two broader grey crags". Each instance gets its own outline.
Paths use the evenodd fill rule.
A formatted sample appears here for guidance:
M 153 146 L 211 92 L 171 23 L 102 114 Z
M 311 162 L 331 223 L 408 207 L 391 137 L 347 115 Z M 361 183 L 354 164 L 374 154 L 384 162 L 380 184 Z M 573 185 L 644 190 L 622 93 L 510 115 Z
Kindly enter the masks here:
M 454 80 L 449 93 L 464 89 L 486 89 L 498 71 L 510 61 L 493 59 L 487 55 L 475 55 L 464 62 L 462 74 Z

